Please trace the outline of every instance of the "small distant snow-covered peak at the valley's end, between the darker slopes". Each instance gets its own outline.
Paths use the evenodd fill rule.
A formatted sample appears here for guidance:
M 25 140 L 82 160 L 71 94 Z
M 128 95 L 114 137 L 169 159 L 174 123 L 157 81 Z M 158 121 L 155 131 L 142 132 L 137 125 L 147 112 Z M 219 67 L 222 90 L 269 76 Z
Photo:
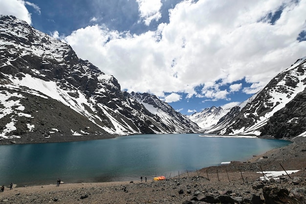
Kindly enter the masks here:
M 188 116 L 188 118 L 197 123 L 197 125 L 204 130 L 211 130 L 213 127 L 217 125 L 220 118 L 226 115 L 230 109 L 222 109 L 221 107 L 211 107 L 206 108 L 200 113 L 193 113 Z

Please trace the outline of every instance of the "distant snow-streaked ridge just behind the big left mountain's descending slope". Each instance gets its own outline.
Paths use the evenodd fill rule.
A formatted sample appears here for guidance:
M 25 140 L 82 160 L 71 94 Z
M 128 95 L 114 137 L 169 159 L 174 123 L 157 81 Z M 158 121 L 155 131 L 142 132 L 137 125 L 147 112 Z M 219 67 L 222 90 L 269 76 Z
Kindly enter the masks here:
M 159 100 L 155 95 L 149 93 L 131 92 L 131 96 L 143 104 L 148 111 L 161 118 L 161 121 L 170 127 L 174 133 L 203 132 L 198 125 L 192 122 L 184 114 L 176 112 L 169 104 Z

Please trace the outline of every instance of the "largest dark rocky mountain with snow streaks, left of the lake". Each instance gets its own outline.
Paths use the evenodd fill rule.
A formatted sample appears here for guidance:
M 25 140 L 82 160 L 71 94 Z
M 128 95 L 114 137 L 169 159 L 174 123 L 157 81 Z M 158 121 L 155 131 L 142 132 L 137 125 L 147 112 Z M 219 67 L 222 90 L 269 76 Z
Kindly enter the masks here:
M 151 113 L 137 100 L 66 43 L 13 16 L 0 16 L 0 139 L 200 131 L 180 113 L 167 112 L 174 115 L 166 121 L 165 114 Z

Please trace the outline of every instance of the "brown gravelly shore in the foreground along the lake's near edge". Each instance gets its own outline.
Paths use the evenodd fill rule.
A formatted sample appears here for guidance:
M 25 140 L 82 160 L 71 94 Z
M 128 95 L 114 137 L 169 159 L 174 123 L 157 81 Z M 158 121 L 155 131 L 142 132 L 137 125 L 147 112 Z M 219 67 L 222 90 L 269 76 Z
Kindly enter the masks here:
M 305 186 L 306 137 L 246 161 L 231 161 L 226 165 L 210 166 L 164 181 L 141 182 L 137 179 L 133 182 L 64 183 L 59 187 L 55 182 L 49 185 L 17 186 L 13 190 L 6 188 L 4 192 L 0 192 L 0 201 L 10 204 L 55 201 L 62 201 L 65 204 L 182 204 L 183 201 L 190 201 L 194 192 L 217 195 L 223 191 L 232 191 L 233 195 L 237 194 L 248 199 L 252 194 L 262 194 L 262 189 L 253 189 L 254 183 L 262 176 L 257 173 L 260 172 L 258 167 L 263 171 L 280 171 L 282 170 L 280 163 L 286 170 L 301 169 L 292 174 L 292 178 L 303 178 L 301 181 L 304 182 L 301 182 L 301 185 Z M 291 189 L 290 186 L 293 184 L 288 178 L 277 185 Z

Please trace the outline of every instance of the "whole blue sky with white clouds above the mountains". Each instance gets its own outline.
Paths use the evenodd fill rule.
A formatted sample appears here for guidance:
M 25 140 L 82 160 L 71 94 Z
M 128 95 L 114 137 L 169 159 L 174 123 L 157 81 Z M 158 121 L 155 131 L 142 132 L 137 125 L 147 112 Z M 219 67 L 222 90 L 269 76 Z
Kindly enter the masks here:
M 187 115 L 238 105 L 306 56 L 306 0 L 0 0 L 0 14 Z

